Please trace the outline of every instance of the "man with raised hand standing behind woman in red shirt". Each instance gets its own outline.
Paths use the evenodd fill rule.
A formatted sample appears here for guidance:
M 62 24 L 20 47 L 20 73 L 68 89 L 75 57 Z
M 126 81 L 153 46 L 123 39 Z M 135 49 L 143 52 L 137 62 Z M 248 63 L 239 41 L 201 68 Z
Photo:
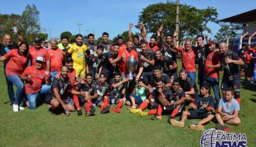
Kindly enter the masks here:
M 23 39 L 22 35 L 20 35 L 19 30 L 17 31 L 17 35 L 18 35 L 19 43 L 22 42 L 24 39 Z M 3 44 L 0 43 L 0 56 L 4 56 L 4 54 L 6 54 L 7 52 L 9 52 L 12 49 L 19 49 L 18 44 L 12 42 L 11 35 L 7 35 L 7 34 L 4 35 L 3 41 L 4 41 Z M 14 103 L 13 84 L 11 81 L 8 80 L 8 78 L 6 77 L 6 74 L 5 74 L 5 68 L 6 68 L 8 61 L 9 61 L 9 59 L 4 60 L 3 67 L 4 67 L 5 81 L 7 84 L 8 96 L 10 98 L 10 104 L 13 105 L 13 103 Z

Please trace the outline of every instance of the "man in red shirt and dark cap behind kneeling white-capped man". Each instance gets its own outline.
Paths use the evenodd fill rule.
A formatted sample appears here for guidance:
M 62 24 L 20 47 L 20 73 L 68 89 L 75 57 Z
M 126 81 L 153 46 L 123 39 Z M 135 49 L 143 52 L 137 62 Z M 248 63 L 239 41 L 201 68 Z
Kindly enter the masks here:
M 41 46 L 41 43 L 42 43 L 41 38 L 39 36 L 35 36 L 34 38 L 35 47 L 32 47 L 31 49 L 29 49 L 29 54 L 31 55 L 31 65 L 35 65 L 36 58 L 38 56 L 41 56 L 42 58 L 44 58 L 44 67 L 46 63 L 46 72 L 50 72 L 50 68 L 51 68 L 50 57 L 47 50 Z

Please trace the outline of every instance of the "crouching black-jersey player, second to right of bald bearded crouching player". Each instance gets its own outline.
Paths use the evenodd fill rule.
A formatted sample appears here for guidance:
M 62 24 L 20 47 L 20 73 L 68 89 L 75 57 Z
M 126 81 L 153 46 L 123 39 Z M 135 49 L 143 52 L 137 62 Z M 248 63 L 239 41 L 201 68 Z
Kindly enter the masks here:
M 109 84 L 106 83 L 107 77 L 104 74 L 100 74 L 99 82 L 96 82 L 95 86 L 97 89 L 98 97 L 97 99 L 93 99 L 92 102 L 95 103 L 98 107 L 100 107 L 100 113 L 105 114 L 109 112 L 109 94 L 110 87 Z

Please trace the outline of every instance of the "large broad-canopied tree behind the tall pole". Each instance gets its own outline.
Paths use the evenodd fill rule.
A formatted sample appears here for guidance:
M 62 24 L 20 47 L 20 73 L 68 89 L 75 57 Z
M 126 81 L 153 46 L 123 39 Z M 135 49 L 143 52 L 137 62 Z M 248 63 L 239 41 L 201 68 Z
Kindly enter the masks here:
M 164 25 L 164 34 L 173 33 L 176 24 L 175 16 L 176 3 L 167 1 L 167 3 L 150 4 L 144 8 L 138 22 L 143 22 L 150 33 L 156 33 L 161 24 Z M 203 31 L 211 33 L 211 29 L 206 24 L 216 22 L 217 17 L 215 8 L 197 9 L 194 6 L 180 4 L 179 39 L 200 35 Z

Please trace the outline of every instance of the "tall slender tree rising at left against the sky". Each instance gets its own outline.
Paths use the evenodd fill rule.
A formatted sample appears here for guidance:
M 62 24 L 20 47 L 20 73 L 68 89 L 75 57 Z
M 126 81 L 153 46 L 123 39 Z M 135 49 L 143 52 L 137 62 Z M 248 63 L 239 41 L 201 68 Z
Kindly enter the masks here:
M 24 12 L 22 12 L 21 19 L 25 30 L 24 36 L 28 42 L 32 42 L 35 34 L 40 32 L 39 15 L 40 13 L 36 10 L 35 4 L 32 7 L 28 4 Z

